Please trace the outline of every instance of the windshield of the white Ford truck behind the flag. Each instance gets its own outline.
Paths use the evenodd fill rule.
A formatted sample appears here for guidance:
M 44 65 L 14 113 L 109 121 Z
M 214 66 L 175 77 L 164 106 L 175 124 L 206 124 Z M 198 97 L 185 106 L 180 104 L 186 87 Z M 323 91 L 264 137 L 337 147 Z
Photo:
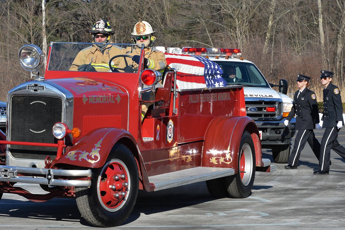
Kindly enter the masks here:
M 252 63 L 233 62 L 233 61 L 215 61 L 224 71 L 222 77 L 227 84 L 238 84 L 251 87 L 270 88 L 268 82 Z

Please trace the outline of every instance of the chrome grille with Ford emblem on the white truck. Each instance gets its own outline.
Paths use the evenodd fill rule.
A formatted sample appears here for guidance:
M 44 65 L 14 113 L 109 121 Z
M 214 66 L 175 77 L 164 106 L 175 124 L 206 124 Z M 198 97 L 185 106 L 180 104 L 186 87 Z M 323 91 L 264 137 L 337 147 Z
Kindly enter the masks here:
M 283 104 L 280 101 L 256 100 L 249 101 L 246 98 L 247 116 L 253 120 L 278 120 L 283 116 Z M 275 111 L 267 111 L 267 108 L 275 108 Z

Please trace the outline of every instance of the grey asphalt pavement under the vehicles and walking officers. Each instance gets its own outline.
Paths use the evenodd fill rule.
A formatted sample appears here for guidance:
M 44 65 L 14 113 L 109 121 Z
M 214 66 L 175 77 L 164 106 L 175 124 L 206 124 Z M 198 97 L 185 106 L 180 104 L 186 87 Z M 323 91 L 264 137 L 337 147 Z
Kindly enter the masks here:
M 321 141 L 323 131 L 315 134 Z M 338 141 L 345 146 L 345 128 Z M 273 161 L 268 149 L 263 157 Z M 109 229 L 345 229 L 345 160 L 333 151 L 331 160 L 329 175 L 313 175 L 318 161 L 307 144 L 298 169 L 277 164 L 274 173 L 257 172 L 245 199 L 215 199 L 204 182 L 140 191 L 125 224 Z M 34 192 L 39 186 L 26 188 Z M 80 217 L 75 200 L 35 203 L 4 194 L 0 201 L 0 229 L 92 228 Z

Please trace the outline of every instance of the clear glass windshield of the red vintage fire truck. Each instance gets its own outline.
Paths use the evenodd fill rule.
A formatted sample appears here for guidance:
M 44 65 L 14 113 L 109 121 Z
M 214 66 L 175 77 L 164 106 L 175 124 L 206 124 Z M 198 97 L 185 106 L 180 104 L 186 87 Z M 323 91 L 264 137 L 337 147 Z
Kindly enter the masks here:
M 143 46 L 134 44 L 107 43 L 103 49 L 100 43 L 66 43 L 52 42 L 48 70 L 61 71 L 90 71 L 90 72 L 138 72 L 138 64 L 132 57 L 126 55 L 132 49 L 141 49 Z M 102 50 L 102 51 L 100 51 Z M 116 57 L 113 59 L 113 57 Z M 111 67 L 109 67 L 109 61 Z

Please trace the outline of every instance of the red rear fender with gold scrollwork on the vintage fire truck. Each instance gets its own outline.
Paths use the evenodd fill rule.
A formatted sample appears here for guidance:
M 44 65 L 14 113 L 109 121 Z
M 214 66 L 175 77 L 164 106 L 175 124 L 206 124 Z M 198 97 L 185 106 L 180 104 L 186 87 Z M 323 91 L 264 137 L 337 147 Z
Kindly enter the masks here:
M 256 165 L 261 166 L 259 130 L 252 118 L 217 117 L 210 122 L 203 148 L 204 167 L 233 168 L 237 172 L 237 159 L 242 133 L 248 131 L 254 141 Z

